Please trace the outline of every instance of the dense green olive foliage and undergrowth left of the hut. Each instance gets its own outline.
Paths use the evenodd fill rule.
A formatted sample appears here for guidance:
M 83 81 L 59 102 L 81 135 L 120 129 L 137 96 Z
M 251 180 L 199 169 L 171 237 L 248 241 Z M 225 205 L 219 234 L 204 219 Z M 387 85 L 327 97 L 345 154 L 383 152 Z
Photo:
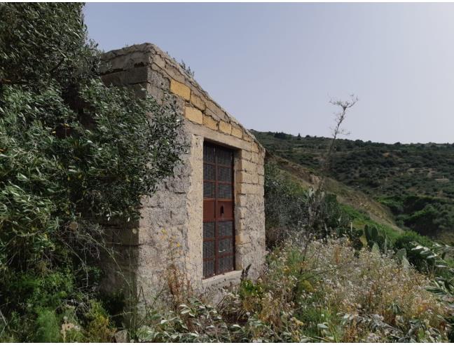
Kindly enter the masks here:
M 2 341 L 111 340 L 97 224 L 135 222 L 181 151 L 171 103 L 102 84 L 82 7 L 0 4 Z

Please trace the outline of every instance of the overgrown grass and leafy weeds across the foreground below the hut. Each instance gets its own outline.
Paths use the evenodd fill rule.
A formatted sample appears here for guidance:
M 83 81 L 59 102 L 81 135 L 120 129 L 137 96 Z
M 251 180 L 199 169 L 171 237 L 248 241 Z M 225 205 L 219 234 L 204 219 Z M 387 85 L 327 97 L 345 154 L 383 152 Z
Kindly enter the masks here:
M 139 341 L 448 341 L 446 303 L 429 280 L 390 255 L 352 248 L 348 239 L 286 241 L 255 283 L 209 306 L 188 299 L 151 313 Z M 452 300 L 452 299 L 451 299 Z M 452 310 L 452 309 L 451 309 Z

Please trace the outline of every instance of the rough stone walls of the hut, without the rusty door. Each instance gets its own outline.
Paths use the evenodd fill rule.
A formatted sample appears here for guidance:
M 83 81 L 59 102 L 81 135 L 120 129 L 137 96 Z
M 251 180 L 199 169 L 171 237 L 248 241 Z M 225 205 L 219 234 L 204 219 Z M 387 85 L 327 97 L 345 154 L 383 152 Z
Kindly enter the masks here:
M 151 299 L 169 288 L 172 269 L 185 276 L 195 292 L 214 298 L 218 288 L 235 285 L 251 264 L 261 271 L 265 257 L 263 160 L 265 150 L 249 131 L 216 104 L 169 55 L 151 43 L 112 50 L 104 55 L 106 85 L 128 85 L 158 102 L 171 95 L 184 119 L 181 140 L 187 152 L 174 177 L 160 183 L 142 201 L 137 236 L 117 236 L 118 247 L 135 248 L 135 289 Z M 235 150 L 235 269 L 202 279 L 203 142 Z M 132 231 L 132 230 L 130 230 Z M 125 240 L 128 238 L 128 240 Z M 131 241 L 130 238 L 134 240 Z M 127 266 L 122 263 L 122 266 Z M 131 269 L 130 269 L 131 271 Z M 111 281 L 114 281 L 111 279 Z

